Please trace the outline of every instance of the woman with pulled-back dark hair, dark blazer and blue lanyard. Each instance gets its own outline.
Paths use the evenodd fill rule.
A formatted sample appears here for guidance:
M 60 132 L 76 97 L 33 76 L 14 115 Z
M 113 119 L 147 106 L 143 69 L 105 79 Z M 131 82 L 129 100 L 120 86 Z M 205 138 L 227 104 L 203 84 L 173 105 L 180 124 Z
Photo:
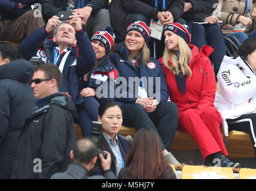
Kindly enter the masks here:
M 129 152 L 131 143 L 118 134 L 123 122 L 121 107 L 115 101 L 107 100 L 99 106 L 97 120 L 102 122 L 100 148 L 111 155 L 111 170 L 115 176 L 124 168 L 124 158 Z

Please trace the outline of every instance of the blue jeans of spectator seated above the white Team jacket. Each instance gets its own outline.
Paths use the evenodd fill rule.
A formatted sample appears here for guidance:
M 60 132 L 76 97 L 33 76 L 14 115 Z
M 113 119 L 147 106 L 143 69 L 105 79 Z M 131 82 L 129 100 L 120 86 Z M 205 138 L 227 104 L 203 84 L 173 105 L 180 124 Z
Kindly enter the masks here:
M 237 42 L 236 39 L 233 38 L 233 36 L 236 37 L 239 42 Z M 256 30 L 252 31 L 251 33 L 233 32 L 233 33 L 229 33 L 229 34 L 225 35 L 225 37 L 229 38 L 232 42 L 234 42 L 234 44 L 236 45 L 237 48 L 239 48 L 240 44 L 243 44 L 243 41 L 245 41 L 245 39 L 251 38 L 254 36 L 256 36 Z M 231 54 L 231 55 L 228 54 L 228 56 L 232 56 L 234 51 L 231 48 L 230 42 L 227 39 L 225 39 L 225 45 Z M 227 51 L 227 53 L 228 53 L 228 51 Z

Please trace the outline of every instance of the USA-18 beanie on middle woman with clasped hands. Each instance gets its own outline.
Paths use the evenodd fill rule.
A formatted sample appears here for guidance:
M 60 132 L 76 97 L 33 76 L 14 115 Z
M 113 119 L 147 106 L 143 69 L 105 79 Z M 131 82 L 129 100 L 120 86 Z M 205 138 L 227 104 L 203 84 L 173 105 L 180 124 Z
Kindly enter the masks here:
M 131 23 L 126 29 L 127 33 L 131 30 L 136 30 L 141 33 L 146 43 L 148 44 L 148 41 L 150 41 L 150 28 L 147 26 L 147 24 L 140 20 L 135 21 L 134 23 Z

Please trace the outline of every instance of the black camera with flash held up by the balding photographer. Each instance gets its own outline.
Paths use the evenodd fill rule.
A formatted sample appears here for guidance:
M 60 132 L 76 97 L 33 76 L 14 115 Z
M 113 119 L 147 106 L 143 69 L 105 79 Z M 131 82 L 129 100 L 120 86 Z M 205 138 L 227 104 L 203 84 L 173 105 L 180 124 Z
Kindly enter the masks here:
M 101 161 L 100 161 L 100 158 L 99 158 L 99 154 L 102 154 L 103 157 L 106 159 L 106 154 L 103 153 L 103 151 L 99 148 L 101 136 L 102 136 L 102 123 L 98 122 L 98 121 L 93 121 L 90 138 L 93 141 L 95 141 L 95 143 L 97 145 L 97 161 L 96 161 L 96 164 L 95 164 L 96 167 L 101 166 Z

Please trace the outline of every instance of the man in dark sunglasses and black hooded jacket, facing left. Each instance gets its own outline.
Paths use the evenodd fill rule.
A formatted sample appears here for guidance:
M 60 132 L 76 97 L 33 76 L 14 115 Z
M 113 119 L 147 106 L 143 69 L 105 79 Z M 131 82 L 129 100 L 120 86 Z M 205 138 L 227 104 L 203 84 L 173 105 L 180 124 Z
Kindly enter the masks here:
M 36 110 L 19 137 L 12 178 L 50 178 L 68 168 L 76 141 L 72 100 L 58 93 L 62 84 L 54 64 L 40 64 L 32 77 Z

